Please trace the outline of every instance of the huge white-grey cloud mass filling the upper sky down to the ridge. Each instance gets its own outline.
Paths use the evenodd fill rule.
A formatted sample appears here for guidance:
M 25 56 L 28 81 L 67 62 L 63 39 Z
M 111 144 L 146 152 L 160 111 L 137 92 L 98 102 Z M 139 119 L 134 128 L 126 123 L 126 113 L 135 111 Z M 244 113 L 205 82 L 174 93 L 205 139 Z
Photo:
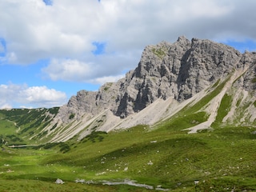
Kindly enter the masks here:
M 42 72 L 53 80 L 119 77 L 137 66 L 144 46 L 180 35 L 256 40 L 251 0 L 2 0 L 0 7 L 2 61 L 28 65 L 50 58 Z

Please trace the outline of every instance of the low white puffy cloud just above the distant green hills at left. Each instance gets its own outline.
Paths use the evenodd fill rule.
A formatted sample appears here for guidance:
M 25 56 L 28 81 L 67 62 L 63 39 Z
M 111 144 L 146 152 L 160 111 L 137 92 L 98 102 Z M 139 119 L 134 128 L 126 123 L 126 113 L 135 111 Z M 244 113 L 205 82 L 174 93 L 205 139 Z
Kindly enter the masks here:
M 0 109 L 62 106 L 66 102 L 65 93 L 46 86 L 0 85 L 0 97 Z M 17 103 L 26 106 L 16 106 Z

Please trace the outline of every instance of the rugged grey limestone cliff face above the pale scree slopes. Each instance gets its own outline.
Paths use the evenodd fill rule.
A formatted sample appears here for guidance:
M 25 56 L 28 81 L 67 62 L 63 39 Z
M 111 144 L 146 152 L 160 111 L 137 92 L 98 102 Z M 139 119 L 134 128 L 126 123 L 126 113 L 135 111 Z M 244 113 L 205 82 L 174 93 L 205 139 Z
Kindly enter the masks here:
M 158 98 L 182 102 L 226 78 L 234 70 L 249 67 L 237 86 L 255 90 L 256 54 L 209 40 L 185 37 L 177 42 L 146 46 L 135 70 L 118 82 L 106 83 L 98 91 L 81 90 L 62 106 L 56 118 L 70 122 L 83 115 L 92 116 L 109 109 L 120 118 L 138 113 Z M 73 118 L 73 117 L 72 117 Z

